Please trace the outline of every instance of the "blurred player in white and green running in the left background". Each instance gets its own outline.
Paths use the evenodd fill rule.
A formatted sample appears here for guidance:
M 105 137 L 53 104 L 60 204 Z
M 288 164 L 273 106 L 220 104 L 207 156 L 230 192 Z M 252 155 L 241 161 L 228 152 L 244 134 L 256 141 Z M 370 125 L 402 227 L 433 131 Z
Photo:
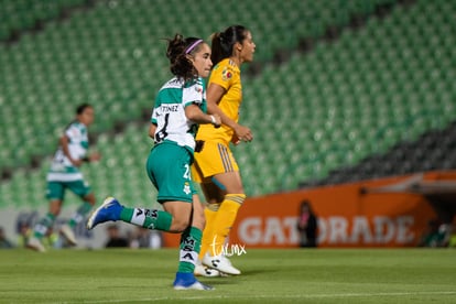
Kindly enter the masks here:
M 83 199 L 83 204 L 72 216 L 68 222 L 61 227 L 61 234 L 69 245 L 76 246 L 73 228 L 80 222 L 95 205 L 95 195 L 84 181 L 79 166 L 84 162 L 98 161 L 98 153 L 87 154 L 89 139 L 88 127 L 94 122 L 94 108 L 83 104 L 76 108 L 76 119 L 65 129 L 59 138 L 57 152 L 47 172 L 46 197 L 50 200 L 48 213 L 34 227 L 33 235 L 26 246 L 30 249 L 44 252 L 42 239 L 53 228 L 55 218 L 59 215 L 65 197 L 69 189 Z

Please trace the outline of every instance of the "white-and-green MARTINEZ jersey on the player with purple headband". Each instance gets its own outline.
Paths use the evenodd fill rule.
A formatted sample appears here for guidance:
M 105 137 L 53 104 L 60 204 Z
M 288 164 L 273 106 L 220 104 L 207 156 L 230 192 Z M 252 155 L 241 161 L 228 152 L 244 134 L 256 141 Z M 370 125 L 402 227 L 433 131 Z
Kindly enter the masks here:
M 207 111 L 206 89 L 202 78 L 184 83 L 174 77 L 160 89 L 151 118 L 152 123 L 158 126 L 155 143 L 170 140 L 195 149 L 198 124 L 185 116 L 185 107 L 189 105 L 197 105 L 204 112 Z

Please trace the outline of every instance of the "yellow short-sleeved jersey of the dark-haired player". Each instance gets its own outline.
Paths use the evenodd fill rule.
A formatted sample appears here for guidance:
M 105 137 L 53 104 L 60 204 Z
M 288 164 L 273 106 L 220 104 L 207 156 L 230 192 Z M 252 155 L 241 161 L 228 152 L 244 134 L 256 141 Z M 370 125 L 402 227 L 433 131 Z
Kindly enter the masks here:
M 221 97 L 218 107 L 227 117 L 238 122 L 239 109 L 242 102 L 242 85 L 239 67 L 229 58 L 222 59 L 210 73 L 208 87 L 211 84 L 217 84 L 225 88 L 226 93 Z M 200 124 L 196 139 L 205 141 L 221 140 L 228 144 L 232 135 L 234 131 L 224 124 L 218 129 L 214 128 L 213 124 Z

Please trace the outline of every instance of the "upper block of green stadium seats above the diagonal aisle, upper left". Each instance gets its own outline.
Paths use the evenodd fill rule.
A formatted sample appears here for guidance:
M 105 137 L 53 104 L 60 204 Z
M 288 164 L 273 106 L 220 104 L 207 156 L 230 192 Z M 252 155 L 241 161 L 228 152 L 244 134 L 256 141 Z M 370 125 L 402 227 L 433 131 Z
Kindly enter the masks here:
M 68 105 L 75 107 L 84 101 L 104 109 L 95 131 L 107 131 L 118 120 L 139 119 L 143 108 L 151 107 L 153 96 L 139 99 L 135 96 L 143 96 L 169 77 L 161 39 L 175 32 L 207 37 L 227 24 L 249 24 L 254 40 L 259 41 L 257 61 L 265 62 L 282 48 L 295 47 L 304 24 L 323 24 L 317 34 L 323 35 L 324 26 L 348 22 L 337 21 L 336 12 L 340 8 L 329 0 L 275 0 L 267 6 L 258 1 L 235 6 L 216 0 L 202 7 L 189 1 L 96 1 L 90 10 L 76 10 L 63 23 L 57 21 L 62 10 L 84 3 L 83 0 L 52 0 L 31 4 L 25 0 L 6 0 L 4 12 L 13 15 L 13 20 L 46 21 L 39 34 L 23 34 L 12 48 L 0 46 L 0 75 L 6 75 L 8 100 L 15 100 L 6 102 L 6 108 L 17 107 L 17 117 L 40 111 L 54 126 L 32 124 L 43 132 L 66 124 L 72 118 Z M 369 6 L 374 4 L 372 0 Z M 220 10 L 227 6 L 232 10 L 228 17 Z M 347 6 L 344 14 L 359 13 L 358 7 L 359 3 Z M 302 18 L 298 8 L 308 18 Z M 12 28 L 26 30 L 30 24 Z M 30 123 L 21 121 L 19 129 Z M 37 144 L 40 153 L 52 152 L 47 145 Z M 12 151 L 17 145 L 13 143 L 7 149 Z M 26 165 L 32 156 L 29 148 L 24 146 L 25 151 L 21 151 L 24 156 L 10 165 Z

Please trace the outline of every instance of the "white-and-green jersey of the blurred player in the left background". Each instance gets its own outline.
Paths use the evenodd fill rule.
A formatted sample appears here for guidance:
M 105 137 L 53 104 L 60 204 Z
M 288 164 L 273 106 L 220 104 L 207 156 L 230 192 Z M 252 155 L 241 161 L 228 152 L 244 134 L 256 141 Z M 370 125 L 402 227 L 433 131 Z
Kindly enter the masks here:
M 72 158 L 74 160 L 84 159 L 88 150 L 87 127 L 79 121 L 75 121 L 65 129 L 65 137 L 68 138 L 68 152 Z M 82 178 L 83 174 L 64 154 L 62 146 L 58 146 L 47 173 L 47 181 L 70 182 Z

